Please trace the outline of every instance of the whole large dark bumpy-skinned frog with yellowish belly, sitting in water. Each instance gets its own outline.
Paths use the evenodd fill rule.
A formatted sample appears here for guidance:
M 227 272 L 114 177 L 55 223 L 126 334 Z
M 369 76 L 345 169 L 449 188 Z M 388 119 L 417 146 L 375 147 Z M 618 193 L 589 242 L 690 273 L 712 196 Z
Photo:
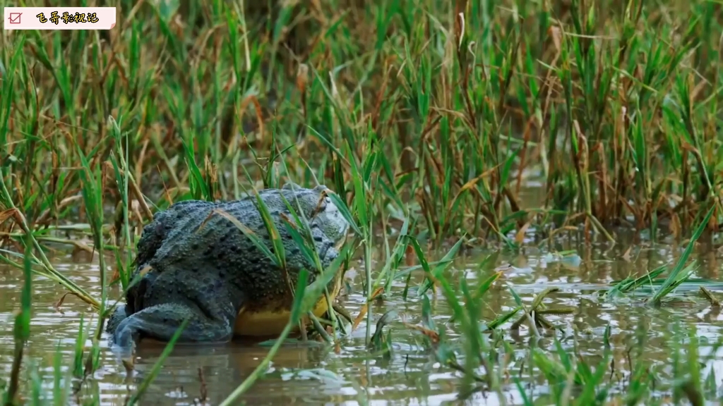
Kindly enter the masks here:
M 313 271 L 315 265 L 283 225 L 283 215 L 292 224 L 294 217 L 280 195 L 299 217 L 300 210 L 304 213 L 322 266 L 328 267 L 338 256 L 335 246 L 349 225 L 328 197 L 320 201 L 325 190 L 326 186 L 304 189 L 287 183 L 282 189 L 259 192 L 281 234 L 292 286 L 301 268 Z M 155 215 L 137 247 L 133 277 L 144 275 L 128 290 L 126 304 L 116 307 L 108 320 L 116 350 L 132 350 L 134 342 L 144 337 L 168 341 L 184 319 L 188 324 L 179 342 L 227 342 L 234 334 L 281 332 L 292 303 L 284 272 L 234 223 L 212 215 L 223 210 L 235 217 L 273 252 L 256 204 L 254 195 L 223 203 L 184 201 Z M 337 276 L 329 291 L 337 292 L 338 285 Z M 325 311 L 323 306 L 315 313 Z

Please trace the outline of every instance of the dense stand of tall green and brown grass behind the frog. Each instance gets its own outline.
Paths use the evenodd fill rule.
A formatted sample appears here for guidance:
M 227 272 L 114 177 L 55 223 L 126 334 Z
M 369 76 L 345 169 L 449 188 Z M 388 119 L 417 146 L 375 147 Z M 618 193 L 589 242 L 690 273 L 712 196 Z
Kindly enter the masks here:
M 241 168 L 267 178 L 254 162 L 269 157 L 301 183 L 323 173 L 355 207 L 363 198 L 364 230 L 409 203 L 434 241 L 510 243 L 526 223 L 680 233 L 719 206 L 716 4 L 424 0 L 335 12 L 338 1 L 313 30 L 283 28 L 303 11 L 279 10 L 268 36 L 249 4 L 191 16 L 129 1 L 114 4 L 111 33 L 4 33 L 12 201 L 38 214 L 33 228 L 82 217 L 72 202 L 85 156 L 93 170 L 110 161 L 109 204 L 147 217 L 140 193 L 161 208 L 233 199 Z M 302 32 L 297 61 L 285 44 Z M 523 207 L 535 172 L 546 197 Z

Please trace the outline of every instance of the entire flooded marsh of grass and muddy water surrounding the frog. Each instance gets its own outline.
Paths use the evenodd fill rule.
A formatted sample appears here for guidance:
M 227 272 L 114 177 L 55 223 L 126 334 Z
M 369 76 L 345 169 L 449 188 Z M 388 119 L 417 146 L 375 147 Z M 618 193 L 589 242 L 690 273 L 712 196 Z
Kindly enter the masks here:
M 0 35 L 5 405 L 723 399 L 720 4 L 62 5 L 116 27 Z M 350 222 L 350 322 L 121 363 L 143 226 L 290 181 Z

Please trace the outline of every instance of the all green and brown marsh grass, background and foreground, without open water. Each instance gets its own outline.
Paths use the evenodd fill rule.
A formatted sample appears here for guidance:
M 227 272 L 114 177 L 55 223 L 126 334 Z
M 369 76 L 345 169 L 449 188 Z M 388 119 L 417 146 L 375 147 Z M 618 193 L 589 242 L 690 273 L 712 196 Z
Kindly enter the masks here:
M 402 300 L 422 301 L 422 324 L 401 328 L 420 332 L 429 353 L 461 373 L 461 398 L 484 391 L 500 403 L 514 392 L 514 402 L 525 405 L 654 404 L 665 397 L 702 405 L 718 397 L 716 376 L 703 366 L 719 345 L 701 355 L 695 327 L 669 333 L 674 353 L 664 372 L 644 360 L 641 327 L 621 378 L 609 329 L 597 358 L 563 345 L 546 317 L 574 309 L 544 305 L 555 288 L 529 302 L 508 286 L 511 311 L 485 320 L 486 293 L 504 285 L 502 272 L 491 270 L 474 287 L 464 278 L 455 285 L 450 264 L 474 246 L 554 249 L 571 232 L 593 244 L 614 243 L 623 229 L 653 241 L 669 235 L 685 244 L 675 264 L 630 275 L 598 299 L 653 287 L 641 303 L 651 312 L 667 306 L 696 271 L 696 241 L 711 238 L 721 222 L 720 4 L 101 3 L 62 6 L 118 7 L 112 30 L 0 36 L 0 260 L 22 280 L 14 362 L 10 376 L 0 377 L 0 400 L 65 404 L 94 379 L 98 320 L 119 300 L 108 287 L 133 282 L 134 246 L 154 212 L 287 181 L 325 183 L 354 223 L 350 256 L 335 267 L 350 267 L 351 254 L 362 259 L 366 304 L 349 321 L 353 329 L 366 321 L 370 357 L 393 353 L 397 315 L 374 307 L 399 282 Z M 530 183 L 539 185 L 540 202 L 526 202 Z M 303 230 L 304 219 L 294 221 Z M 64 247 L 103 253 L 100 269 L 113 272 L 100 272 L 100 297 L 48 259 Z M 267 254 L 284 263 L 283 252 Z M 425 275 L 417 286 L 413 272 Z M 97 311 L 81 319 L 74 359 L 56 354 L 51 384 L 25 351 L 34 273 L 72 296 L 56 306 L 77 299 Z M 307 287 L 306 276 L 283 337 L 325 294 L 320 285 Z M 436 293 L 453 311 L 444 325 L 432 316 L 429 296 Z M 702 285 L 701 298 L 719 307 Z M 344 330 L 331 313 L 330 323 Z M 320 340 L 343 347 L 337 329 L 329 334 L 327 321 L 310 319 Z M 523 325 L 536 339 L 554 334 L 555 350 L 534 340 L 520 359 L 505 332 Z M 445 333 L 451 328 L 458 338 Z M 228 399 L 213 402 L 235 404 L 282 341 Z M 172 348 L 127 402 L 149 390 Z M 537 384 L 541 377 L 547 390 L 530 389 L 523 376 Z M 99 396 L 76 399 L 98 404 Z

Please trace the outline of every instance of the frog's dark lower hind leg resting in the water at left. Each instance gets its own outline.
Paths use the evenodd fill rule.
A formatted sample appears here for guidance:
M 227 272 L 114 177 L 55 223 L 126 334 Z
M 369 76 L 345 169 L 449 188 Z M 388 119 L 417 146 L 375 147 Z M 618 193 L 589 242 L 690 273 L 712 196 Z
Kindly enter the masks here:
M 188 324 L 178 342 L 228 342 L 233 337 L 233 320 L 210 319 L 188 306 L 163 303 L 120 321 L 113 333 L 114 350 L 126 360 L 132 355 L 134 342 L 142 337 L 168 342 L 184 320 Z

